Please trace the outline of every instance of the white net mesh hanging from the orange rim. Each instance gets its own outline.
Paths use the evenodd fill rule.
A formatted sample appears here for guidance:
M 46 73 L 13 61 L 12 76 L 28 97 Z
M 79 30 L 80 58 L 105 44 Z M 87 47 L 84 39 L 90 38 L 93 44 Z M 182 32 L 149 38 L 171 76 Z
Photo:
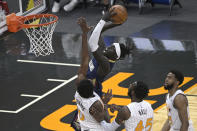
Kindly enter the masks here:
M 56 18 L 54 17 L 41 17 L 41 18 L 33 18 L 30 20 L 25 20 L 24 24 L 44 24 L 54 21 Z M 52 35 L 55 30 L 57 22 L 52 24 L 44 25 L 44 26 L 34 26 L 30 28 L 24 28 L 23 30 L 27 34 L 30 40 L 30 53 L 34 53 L 36 57 L 38 56 L 46 56 L 54 53 L 52 47 Z

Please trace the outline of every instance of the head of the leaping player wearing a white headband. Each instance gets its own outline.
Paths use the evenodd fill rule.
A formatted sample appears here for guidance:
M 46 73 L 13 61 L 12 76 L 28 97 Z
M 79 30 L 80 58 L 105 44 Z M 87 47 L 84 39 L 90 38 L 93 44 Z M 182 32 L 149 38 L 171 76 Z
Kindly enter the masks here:
M 130 50 L 122 43 L 113 43 L 103 51 L 104 56 L 113 61 L 123 59 L 129 53 Z

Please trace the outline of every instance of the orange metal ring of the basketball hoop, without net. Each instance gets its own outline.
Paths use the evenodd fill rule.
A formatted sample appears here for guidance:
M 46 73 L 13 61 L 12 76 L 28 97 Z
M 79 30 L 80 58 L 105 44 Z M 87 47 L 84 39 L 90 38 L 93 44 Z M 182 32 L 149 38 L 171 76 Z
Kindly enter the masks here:
M 39 18 L 43 18 L 43 17 L 46 17 L 46 18 L 54 17 L 55 20 L 48 22 L 48 23 L 44 23 L 44 24 L 24 24 L 25 21 L 27 21 L 27 20 L 31 20 L 34 18 L 39 19 Z M 47 26 L 47 25 L 53 24 L 58 21 L 58 17 L 53 14 L 36 14 L 36 15 L 23 16 L 20 20 L 23 21 L 23 24 L 21 25 L 22 28 L 31 28 L 31 27 L 40 27 L 40 26 Z

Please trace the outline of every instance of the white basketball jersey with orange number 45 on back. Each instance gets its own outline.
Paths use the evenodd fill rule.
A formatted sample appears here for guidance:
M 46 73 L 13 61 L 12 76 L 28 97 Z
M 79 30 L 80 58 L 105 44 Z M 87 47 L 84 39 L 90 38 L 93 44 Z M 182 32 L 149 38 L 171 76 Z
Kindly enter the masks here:
M 152 131 L 154 113 L 148 102 L 131 102 L 127 107 L 131 116 L 125 121 L 126 131 Z

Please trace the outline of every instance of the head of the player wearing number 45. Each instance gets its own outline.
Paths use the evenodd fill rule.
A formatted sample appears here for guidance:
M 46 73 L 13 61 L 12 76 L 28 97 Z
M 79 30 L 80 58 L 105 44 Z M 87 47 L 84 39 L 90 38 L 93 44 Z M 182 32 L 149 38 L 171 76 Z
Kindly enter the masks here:
M 140 101 L 146 98 L 148 96 L 148 93 L 149 88 L 142 81 L 136 81 L 131 83 L 128 89 L 128 96 L 131 97 L 131 99 L 137 98 Z

